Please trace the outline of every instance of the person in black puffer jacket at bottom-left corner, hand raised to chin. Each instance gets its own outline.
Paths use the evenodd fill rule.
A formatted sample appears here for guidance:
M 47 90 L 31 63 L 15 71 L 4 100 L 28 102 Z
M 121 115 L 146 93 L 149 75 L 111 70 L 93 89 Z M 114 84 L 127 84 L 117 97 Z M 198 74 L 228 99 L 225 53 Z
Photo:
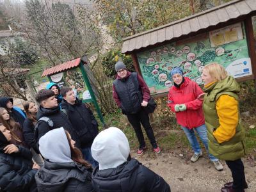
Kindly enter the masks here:
M 36 191 L 35 174 L 40 169 L 32 166 L 28 148 L 10 144 L 10 131 L 0 124 L 0 191 Z

